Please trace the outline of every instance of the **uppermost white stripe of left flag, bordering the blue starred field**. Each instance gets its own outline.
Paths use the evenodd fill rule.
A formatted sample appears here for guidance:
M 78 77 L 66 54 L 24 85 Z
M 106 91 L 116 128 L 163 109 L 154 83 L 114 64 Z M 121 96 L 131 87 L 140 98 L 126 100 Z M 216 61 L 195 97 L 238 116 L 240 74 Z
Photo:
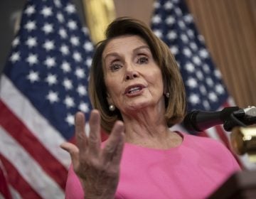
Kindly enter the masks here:
M 31 133 L 41 141 L 46 149 L 60 163 L 68 168 L 70 166 L 70 156 L 66 151 L 60 149 L 65 139 L 58 131 L 52 127 L 31 104 L 31 102 L 19 92 L 6 75 L 1 75 L 0 99 L 16 114 L 16 117 L 26 124 Z

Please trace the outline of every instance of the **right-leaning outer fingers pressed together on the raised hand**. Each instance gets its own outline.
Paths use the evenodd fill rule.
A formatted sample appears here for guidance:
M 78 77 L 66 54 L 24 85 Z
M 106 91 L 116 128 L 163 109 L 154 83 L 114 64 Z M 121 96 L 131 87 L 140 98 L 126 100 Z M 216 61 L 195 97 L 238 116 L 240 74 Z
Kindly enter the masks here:
M 113 164 L 119 165 L 124 148 L 124 124 L 120 121 L 114 124 L 109 139 L 102 150 L 103 162 L 112 161 Z

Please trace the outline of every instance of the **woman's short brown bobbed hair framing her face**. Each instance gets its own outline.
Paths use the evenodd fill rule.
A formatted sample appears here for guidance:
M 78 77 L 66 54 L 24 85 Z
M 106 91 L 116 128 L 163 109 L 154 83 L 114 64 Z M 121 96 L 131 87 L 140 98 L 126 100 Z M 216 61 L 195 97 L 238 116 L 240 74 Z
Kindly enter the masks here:
M 98 109 L 101 114 L 102 128 L 110 133 L 114 122 L 122 120 L 118 109 L 109 110 L 107 103 L 107 88 L 104 80 L 102 53 L 107 43 L 119 36 L 139 36 L 149 45 L 156 64 L 159 65 L 164 80 L 164 87 L 170 93 L 165 97 L 166 121 L 168 127 L 181 122 L 186 112 L 186 96 L 181 73 L 168 46 L 157 38 L 154 33 L 142 21 L 133 18 L 117 18 L 107 27 L 106 39 L 97 44 L 92 58 L 90 71 L 89 93 L 92 107 Z

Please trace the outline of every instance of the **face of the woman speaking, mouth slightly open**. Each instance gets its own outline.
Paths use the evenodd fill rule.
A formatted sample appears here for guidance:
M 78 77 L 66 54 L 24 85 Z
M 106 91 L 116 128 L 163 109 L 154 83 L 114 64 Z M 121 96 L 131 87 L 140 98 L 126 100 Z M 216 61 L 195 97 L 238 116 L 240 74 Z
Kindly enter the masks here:
M 139 36 L 112 39 L 102 54 L 107 101 L 126 113 L 164 109 L 164 84 L 149 46 Z

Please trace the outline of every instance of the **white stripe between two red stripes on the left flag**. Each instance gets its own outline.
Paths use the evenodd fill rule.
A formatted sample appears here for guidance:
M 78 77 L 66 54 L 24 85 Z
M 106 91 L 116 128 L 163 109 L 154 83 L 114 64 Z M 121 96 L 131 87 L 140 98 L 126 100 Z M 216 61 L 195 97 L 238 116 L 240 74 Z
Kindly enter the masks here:
M 63 190 L 41 166 L 0 127 L 0 153 L 8 159 L 31 187 L 42 198 L 64 198 Z M 47 160 L 46 160 L 47 161 Z

